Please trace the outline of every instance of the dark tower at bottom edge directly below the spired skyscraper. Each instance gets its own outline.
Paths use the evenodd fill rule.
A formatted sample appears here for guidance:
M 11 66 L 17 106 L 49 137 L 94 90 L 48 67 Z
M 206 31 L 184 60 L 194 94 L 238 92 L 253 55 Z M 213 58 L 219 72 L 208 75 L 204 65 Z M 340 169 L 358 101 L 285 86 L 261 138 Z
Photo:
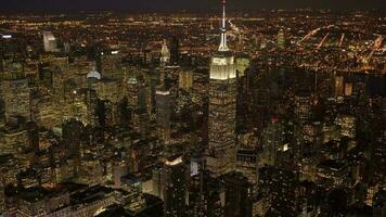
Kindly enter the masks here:
M 224 216 L 252 217 L 252 184 L 241 173 L 230 173 L 223 177 L 226 189 Z

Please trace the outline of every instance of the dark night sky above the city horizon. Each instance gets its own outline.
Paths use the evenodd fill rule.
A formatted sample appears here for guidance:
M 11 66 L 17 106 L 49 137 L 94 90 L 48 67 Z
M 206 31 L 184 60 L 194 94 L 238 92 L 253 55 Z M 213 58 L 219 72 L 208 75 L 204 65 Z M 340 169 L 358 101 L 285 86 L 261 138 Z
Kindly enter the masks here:
M 0 11 L 75 12 L 119 10 L 150 11 L 211 11 L 220 0 L 0 0 Z M 229 10 L 259 9 L 386 9 L 386 0 L 228 0 Z

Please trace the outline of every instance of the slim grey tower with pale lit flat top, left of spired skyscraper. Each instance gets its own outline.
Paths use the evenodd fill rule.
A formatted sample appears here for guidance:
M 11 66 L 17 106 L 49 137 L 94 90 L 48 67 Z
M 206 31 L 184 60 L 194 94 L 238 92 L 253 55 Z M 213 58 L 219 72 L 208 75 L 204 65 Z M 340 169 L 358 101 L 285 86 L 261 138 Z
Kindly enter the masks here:
M 170 142 L 170 115 L 171 115 L 171 99 L 170 91 L 157 90 L 155 93 L 156 101 L 156 120 L 157 133 L 164 144 Z

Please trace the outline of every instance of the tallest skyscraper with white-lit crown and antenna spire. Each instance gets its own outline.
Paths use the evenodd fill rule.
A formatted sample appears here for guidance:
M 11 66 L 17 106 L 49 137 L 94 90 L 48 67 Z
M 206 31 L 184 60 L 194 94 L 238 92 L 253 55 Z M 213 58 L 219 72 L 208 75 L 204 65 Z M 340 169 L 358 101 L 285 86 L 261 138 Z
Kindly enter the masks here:
M 233 170 L 236 162 L 236 68 L 227 46 L 226 1 L 222 3 L 220 47 L 211 58 L 209 77 L 207 163 L 216 176 Z

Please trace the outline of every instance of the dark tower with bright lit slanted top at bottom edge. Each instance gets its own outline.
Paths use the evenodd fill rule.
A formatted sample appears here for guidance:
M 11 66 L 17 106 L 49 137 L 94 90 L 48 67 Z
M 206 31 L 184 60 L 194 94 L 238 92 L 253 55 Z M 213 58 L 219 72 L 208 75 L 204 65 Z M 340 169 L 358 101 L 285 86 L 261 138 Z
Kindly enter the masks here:
M 164 167 L 164 216 L 185 216 L 186 168 L 182 156 L 169 157 Z

